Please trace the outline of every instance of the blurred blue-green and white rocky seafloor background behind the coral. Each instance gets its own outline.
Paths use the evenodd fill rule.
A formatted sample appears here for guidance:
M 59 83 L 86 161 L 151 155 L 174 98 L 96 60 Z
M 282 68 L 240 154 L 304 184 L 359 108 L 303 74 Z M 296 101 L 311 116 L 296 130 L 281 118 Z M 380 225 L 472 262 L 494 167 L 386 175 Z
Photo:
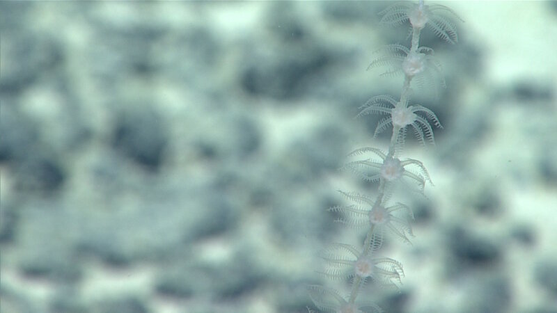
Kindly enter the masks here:
M 376 1 L 0 2 L 0 312 L 307 312 L 354 120 L 402 77 L 366 67 L 407 45 Z M 386 312 L 557 312 L 557 5 L 450 2 L 459 43 L 424 31 L 444 125 L 402 157 L 413 245 Z M 402 201 L 393 199 L 393 201 Z

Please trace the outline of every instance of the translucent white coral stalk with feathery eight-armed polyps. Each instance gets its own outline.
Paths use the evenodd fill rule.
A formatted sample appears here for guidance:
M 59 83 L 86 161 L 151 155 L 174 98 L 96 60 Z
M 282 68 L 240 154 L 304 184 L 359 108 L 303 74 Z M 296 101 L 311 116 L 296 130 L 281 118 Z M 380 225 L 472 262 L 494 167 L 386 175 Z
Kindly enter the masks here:
M 417 4 L 395 3 L 380 14 L 383 15 L 382 24 L 398 25 L 407 21 L 411 24 L 411 46 L 387 45 L 380 49 L 384 56 L 376 58 L 369 67 L 388 66 L 389 69 L 382 76 L 403 74 L 405 80 L 400 98 L 391 95 L 372 97 L 361 106 L 361 111 L 356 116 L 385 114 L 387 117 L 379 121 L 374 137 L 386 131 L 389 126 L 392 126 L 393 131 L 388 152 L 377 147 L 359 148 L 350 153 L 349 157 L 364 159 L 348 161 L 343 166 L 366 182 L 378 182 L 379 186 L 375 197 L 340 191 L 354 204 L 329 209 L 341 215 L 337 222 L 352 227 L 366 227 L 368 232 L 361 248 L 347 243 L 334 243 L 322 253 L 327 268 L 320 273 L 331 280 L 350 282 L 352 286 L 350 295 L 345 298 L 334 288 L 312 285 L 311 299 L 324 312 L 382 312 L 377 305 L 362 305 L 356 299 L 363 293 L 363 286 L 368 282 L 383 288 L 399 287 L 402 284 L 402 264 L 390 257 L 377 255 L 377 250 L 383 243 L 383 234 L 385 230 L 389 231 L 406 243 L 410 243 L 409 237 L 414 236 L 410 225 L 414 218 L 411 209 L 400 202 L 390 206 L 386 203 L 393 195 L 395 186 L 402 186 L 402 191 L 406 192 L 414 192 L 417 187 L 417 191 L 423 195 L 425 182 L 432 184 L 421 161 L 400 159 L 400 154 L 405 145 L 408 126 L 414 129 L 414 134 L 423 144 L 426 140 L 434 143 L 432 125 L 441 127 L 441 122 L 433 111 L 425 106 L 409 104 L 410 86 L 415 80 L 422 87 L 427 85 L 436 90 L 439 86 L 444 87 L 441 65 L 433 58 L 433 49 L 419 45 L 420 32 L 428 26 L 439 38 L 455 43 L 456 27 L 448 15 L 456 15 L 445 6 L 425 6 L 423 1 L 418 1 Z

